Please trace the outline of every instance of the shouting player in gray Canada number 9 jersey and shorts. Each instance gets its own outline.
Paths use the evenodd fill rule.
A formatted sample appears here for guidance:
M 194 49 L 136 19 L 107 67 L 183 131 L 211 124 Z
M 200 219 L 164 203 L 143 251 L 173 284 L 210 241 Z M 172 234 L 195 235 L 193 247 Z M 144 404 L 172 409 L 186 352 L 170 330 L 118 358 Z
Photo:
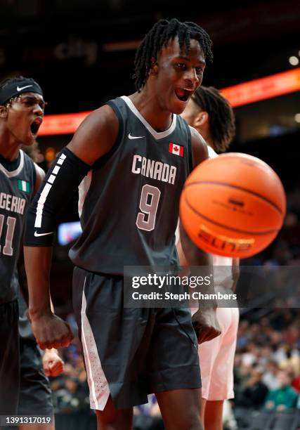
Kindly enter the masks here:
M 136 92 L 79 126 L 48 171 L 27 219 L 30 317 L 41 348 L 66 346 L 48 276 L 56 214 L 81 183 L 82 235 L 70 251 L 73 301 L 98 429 L 131 429 L 132 407 L 156 393 L 166 429 L 202 429 L 197 338 L 187 309 L 123 306 L 124 266 L 176 266 L 185 178 L 207 145 L 178 116 L 200 86 L 211 41 L 193 22 L 160 20 L 135 60 Z M 193 148 L 193 149 L 192 149 Z M 202 263 L 210 263 L 202 253 Z M 195 318 L 198 341 L 219 334 L 215 311 Z

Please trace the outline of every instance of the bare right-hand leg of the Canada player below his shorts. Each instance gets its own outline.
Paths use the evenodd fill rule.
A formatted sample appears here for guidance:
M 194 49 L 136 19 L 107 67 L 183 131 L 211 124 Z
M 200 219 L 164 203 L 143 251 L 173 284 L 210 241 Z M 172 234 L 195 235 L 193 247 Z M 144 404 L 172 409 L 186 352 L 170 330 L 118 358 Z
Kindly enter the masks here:
M 201 430 L 201 389 L 155 393 L 166 430 Z

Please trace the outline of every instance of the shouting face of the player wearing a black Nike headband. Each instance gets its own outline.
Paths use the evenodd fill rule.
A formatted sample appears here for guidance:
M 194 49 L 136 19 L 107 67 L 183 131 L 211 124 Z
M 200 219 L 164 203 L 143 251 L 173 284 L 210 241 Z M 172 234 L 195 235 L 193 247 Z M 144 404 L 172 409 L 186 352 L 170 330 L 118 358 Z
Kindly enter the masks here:
M 45 102 L 37 93 L 23 93 L 8 105 L 6 125 L 20 144 L 32 145 L 44 117 Z

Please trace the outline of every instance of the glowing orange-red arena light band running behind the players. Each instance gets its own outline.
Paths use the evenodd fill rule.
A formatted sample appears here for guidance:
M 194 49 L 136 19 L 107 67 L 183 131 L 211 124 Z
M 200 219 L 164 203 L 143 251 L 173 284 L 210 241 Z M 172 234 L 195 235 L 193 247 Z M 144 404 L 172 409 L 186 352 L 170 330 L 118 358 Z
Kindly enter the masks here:
M 232 107 L 237 107 L 294 91 L 300 91 L 300 67 L 244 82 L 244 84 L 228 86 L 228 88 L 222 89 L 221 93 L 229 100 Z M 90 112 L 45 115 L 44 122 L 39 129 L 39 136 L 72 134 Z

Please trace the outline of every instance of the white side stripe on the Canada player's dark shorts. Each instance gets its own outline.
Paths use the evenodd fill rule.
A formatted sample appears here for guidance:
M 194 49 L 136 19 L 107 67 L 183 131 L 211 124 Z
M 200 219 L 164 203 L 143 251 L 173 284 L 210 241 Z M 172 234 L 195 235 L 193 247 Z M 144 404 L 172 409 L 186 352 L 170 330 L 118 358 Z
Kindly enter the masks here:
M 84 287 L 86 278 L 84 279 Z M 104 410 L 110 396 L 110 387 L 103 372 L 98 356 L 96 341 L 93 337 L 91 325 L 86 316 L 86 296 L 82 292 L 81 305 L 81 342 L 84 349 L 84 360 L 86 363 L 86 374 L 88 377 L 90 391 L 91 409 Z

